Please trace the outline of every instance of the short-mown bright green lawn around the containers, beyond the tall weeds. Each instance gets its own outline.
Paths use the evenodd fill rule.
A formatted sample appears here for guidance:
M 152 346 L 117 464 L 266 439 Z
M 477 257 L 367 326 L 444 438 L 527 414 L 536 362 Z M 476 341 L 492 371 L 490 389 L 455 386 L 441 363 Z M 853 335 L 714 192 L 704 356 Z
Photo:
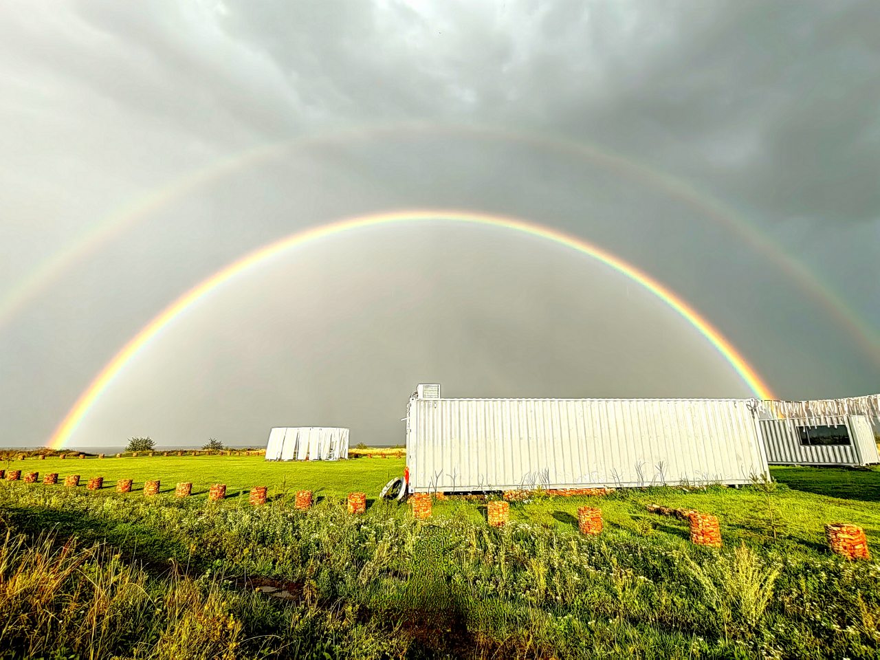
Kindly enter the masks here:
M 179 481 L 193 483 L 194 503 L 207 498 L 212 484 L 224 483 L 226 506 L 246 505 L 253 486 L 268 486 L 271 500 L 283 500 L 297 490 L 311 490 L 315 499 L 343 497 L 360 491 L 368 506 L 377 505 L 378 494 L 392 477 L 402 476 L 405 458 L 351 458 L 348 460 L 268 462 L 260 456 L 155 456 L 138 458 L 47 458 L 13 460 L 7 469 L 22 473 L 80 475 L 80 490 L 90 477 L 104 477 L 96 496 L 114 494 L 116 480 L 132 479 L 128 497 L 143 497 L 143 482 L 161 481 L 160 494 L 172 495 Z M 584 504 L 602 509 L 608 532 L 657 533 L 687 542 L 687 524 L 675 517 L 650 514 L 646 505 L 662 504 L 700 510 L 719 517 L 726 543 L 750 545 L 768 541 L 775 532 L 777 543 L 793 552 L 825 548 L 824 524 L 848 522 L 861 525 L 880 551 L 880 471 L 845 468 L 774 467 L 781 487 L 767 497 L 754 488 L 710 488 L 687 492 L 682 488 L 632 489 L 604 497 L 539 497 L 511 504 L 513 520 L 531 522 L 561 531 L 576 532 L 577 509 Z M 40 486 L 39 488 L 64 488 Z M 406 506 L 382 505 L 383 515 L 408 515 Z M 485 504 L 449 500 L 435 502 L 436 517 L 457 516 L 485 519 Z M 774 524 L 771 524 L 771 517 Z

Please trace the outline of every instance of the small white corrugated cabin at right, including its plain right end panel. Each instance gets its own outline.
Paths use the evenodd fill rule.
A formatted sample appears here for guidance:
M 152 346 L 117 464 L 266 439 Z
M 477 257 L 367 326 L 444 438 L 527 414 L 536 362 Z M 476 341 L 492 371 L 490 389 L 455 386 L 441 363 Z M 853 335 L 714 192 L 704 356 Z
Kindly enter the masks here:
M 801 444 L 800 427 L 845 427 L 850 444 Z M 862 415 L 762 420 L 767 463 L 775 465 L 859 466 L 876 463 L 874 434 Z

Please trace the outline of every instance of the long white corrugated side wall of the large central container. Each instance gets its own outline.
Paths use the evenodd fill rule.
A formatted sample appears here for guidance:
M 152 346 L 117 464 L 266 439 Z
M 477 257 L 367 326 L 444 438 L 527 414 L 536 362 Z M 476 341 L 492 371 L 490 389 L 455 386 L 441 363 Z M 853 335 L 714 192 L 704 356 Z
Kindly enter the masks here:
M 418 399 L 415 492 L 742 484 L 766 473 L 748 400 Z

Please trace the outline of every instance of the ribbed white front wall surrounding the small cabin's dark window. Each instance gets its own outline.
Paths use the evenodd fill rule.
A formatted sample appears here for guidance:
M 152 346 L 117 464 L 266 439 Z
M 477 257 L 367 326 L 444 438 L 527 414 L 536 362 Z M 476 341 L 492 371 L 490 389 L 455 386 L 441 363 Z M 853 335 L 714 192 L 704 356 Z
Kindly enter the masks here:
M 867 418 L 865 419 L 867 422 Z M 767 463 L 771 465 L 857 466 L 862 462 L 854 446 L 854 433 L 847 423 L 847 417 L 805 417 L 762 420 L 759 423 L 766 448 Z M 846 426 L 852 444 L 801 444 L 798 427 L 817 425 Z

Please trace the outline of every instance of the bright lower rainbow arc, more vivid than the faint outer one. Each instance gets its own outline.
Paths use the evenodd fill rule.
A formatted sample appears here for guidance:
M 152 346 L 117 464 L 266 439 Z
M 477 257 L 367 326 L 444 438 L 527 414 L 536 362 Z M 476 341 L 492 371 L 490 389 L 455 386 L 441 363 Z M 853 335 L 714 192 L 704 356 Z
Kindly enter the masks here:
M 106 388 L 116 378 L 120 371 L 125 367 L 129 360 L 142 350 L 153 338 L 155 338 L 164 328 L 168 326 L 174 319 L 185 312 L 191 305 L 198 302 L 199 299 L 208 295 L 217 287 L 229 282 L 233 277 L 241 275 L 246 270 L 253 268 L 260 263 L 270 260 L 294 247 L 303 246 L 319 238 L 326 238 L 345 231 L 352 231 L 359 228 L 372 227 L 382 224 L 394 223 L 412 223 L 425 221 L 445 221 L 452 223 L 480 224 L 485 226 L 498 227 L 510 231 L 518 231 L 530 236 L 544 238 L 561 246 L 566 246 L 576 252 L 586 254 L 597 259 L 605 265 L 618 271 L 621 275 L 642 285 L 656 297 L 659 297 L 664 303 L 668 304 L 673 310 L 678 312 L 680 316 L 688 321 L 700 334 L 702 334 L 715 349 L 730 363 L 730 366 L 737 371 L 740 378 L 748 385 L 749 389 L 754 392 L 759 399 L 775 399 L 774 393 L 770 387 L 766 385 L 764 380 L 759 376 L 758 372 L 749 364 L 744 356 L 735 348 L 724 335 L 715 328 L 707 319 L 700 316 L 690 304 L 687 304 L 678 294 L 668 289 L 666 286 L 657 282 L 653 277 L 644 273 L 639 268 L 635 268 L 627 261 L 620 257 L 609 253 L 608 251 L 594 246 L 591 243 L 576 238 L 562 231 L 557 231 L 540 224 L 524 221 L 519 218 L 510 216 L 495 216 L 488 213 L 479 213 L 473 211 L 462 210 L 400 210 L 388 213 L 378 213 L 367 216 L 356 216 L 345 220 L 340 220 L 330 224 L 323 224 L 304 231 L 297 231 L 285 238 L 281 238 L 268 246 L 260 247 L 252 253 L 246 254 L 239 260 L 232 262 L 230 265 L 209 276 L 192 289 L 188 290 L 182 296 L 177 298 L 172 304 L 165 307 L 158 316 L 150 320 L 128 343 L 123 346 L 120 351 L 113 357 L 110 362 L 106 363 L 104 368 L 92 380 L 88 387 L 80 394 L 76 403 L 70 408 L 65 415 L 61 424 L 55 429 L 48 446 L 52 449 L 61 449 L 62 446 L 70 439 L 70 436 L 76 431 L 79 424 L 84 420 L 86 414 L 92 409 L 100 395 L 106 391 Z

